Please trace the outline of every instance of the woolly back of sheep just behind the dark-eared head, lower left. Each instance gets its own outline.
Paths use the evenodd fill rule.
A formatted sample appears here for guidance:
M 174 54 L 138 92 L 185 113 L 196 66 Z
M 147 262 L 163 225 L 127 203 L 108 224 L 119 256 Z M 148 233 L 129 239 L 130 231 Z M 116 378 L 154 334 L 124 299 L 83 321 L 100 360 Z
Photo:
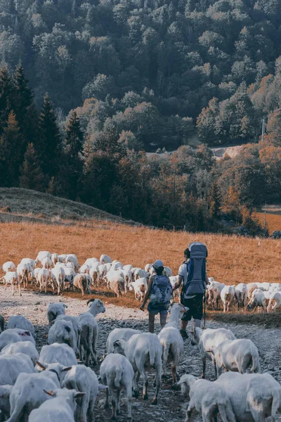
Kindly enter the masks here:
M 52 345 L 43 346 L 41 348 L 39 362 L 41 364 L 59 363 L 63 366 L 77 365 L 74 350 L 65 343 L 53 343 Z

